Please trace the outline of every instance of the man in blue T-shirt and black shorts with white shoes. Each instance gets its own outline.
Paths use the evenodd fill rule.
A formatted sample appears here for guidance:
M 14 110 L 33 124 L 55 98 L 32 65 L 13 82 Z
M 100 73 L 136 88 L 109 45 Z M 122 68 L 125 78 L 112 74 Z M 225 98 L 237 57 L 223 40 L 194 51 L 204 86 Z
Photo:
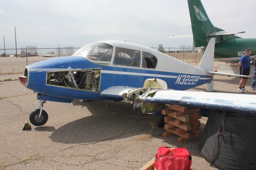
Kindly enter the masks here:
M 240 61 L 238 63 L 238 70 L 240 70 L 240 75 L 250 75 L 250 55 L 251 55 L 252 51 L 251 49 L 246 49 L 245 50 L 245 55 L 243 55 L 240 58 Z M 244 93 L 247 90 L 244 88 L 246 83 L 248 81 L 247 77 L 242 77 L 240 83 L 239 83 L 239 87 L 238 90 L 240 93 Z

